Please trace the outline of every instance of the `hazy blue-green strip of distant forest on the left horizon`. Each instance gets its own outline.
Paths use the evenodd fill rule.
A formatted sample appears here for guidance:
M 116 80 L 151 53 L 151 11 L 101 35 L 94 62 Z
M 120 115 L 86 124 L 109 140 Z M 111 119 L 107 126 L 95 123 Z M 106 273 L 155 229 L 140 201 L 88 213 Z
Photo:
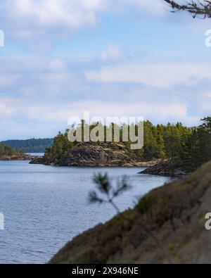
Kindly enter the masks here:
M 10 146 L 12 149 L 23 149 L 26 153 L 44 153 L 46 148 L 53 144 L 53 139 L 27 139 L 1 141 L 1 144 Z

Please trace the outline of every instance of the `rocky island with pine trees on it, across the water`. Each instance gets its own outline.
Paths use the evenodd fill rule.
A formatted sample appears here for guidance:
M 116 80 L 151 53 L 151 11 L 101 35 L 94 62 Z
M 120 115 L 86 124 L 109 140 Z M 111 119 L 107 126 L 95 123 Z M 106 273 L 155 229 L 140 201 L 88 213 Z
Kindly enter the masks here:
M 72 142 L 68 130 L 53 139 L 44 158 L 35 158 L 32 164 L 80 167 L 148 167 L 141 172 L 150 175 L 186 175 L 211 158 L 211 118 L 203 119 L 198 127 L 177 125 L 153 125 L 143 122 L 144 141 L 142 149 L 131 149 L 131 141 Z M 82 123 L 84 125 L 84 123 Z M 90 125 L 94 130 L 96 125 Z M 106 132 L 106 126 L 104 127 Z M 82 134 L 83 135 L 83 134 Z

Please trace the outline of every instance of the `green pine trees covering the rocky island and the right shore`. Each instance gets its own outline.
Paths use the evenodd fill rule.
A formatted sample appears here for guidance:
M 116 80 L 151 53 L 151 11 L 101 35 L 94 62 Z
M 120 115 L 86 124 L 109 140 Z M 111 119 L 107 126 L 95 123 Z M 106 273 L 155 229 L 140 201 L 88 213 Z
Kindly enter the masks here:
M 93 129 L 96 125 L 92 125 Z M 106 127 L 105 133 L 106 133 Z M 122 127 L 120 128 L 120 139 Z M 122 143 L 131 158 L 139 161 L 167 158 L 169 163 L 184 170 L 193 171 L 211 159 L 211 118 L 203 119 L 199 127 L 185 127 L 180 122 L 176 125 L 153 125 L 144 122 L 144 146 L 141 150 L 131 150 L 130 143 Z M 68 156 L 77 142 L 68 140 L 68 130 L 65 134 L 59 133 L 53 145 L 46 149 L 45 158 L 59 160 L 61 156 Z M 98 144 L 96 142 L 95 144 Z M 108 143 L 110 144 L 110 143 Z M 115 150 L 117 143 L 111 144 Z

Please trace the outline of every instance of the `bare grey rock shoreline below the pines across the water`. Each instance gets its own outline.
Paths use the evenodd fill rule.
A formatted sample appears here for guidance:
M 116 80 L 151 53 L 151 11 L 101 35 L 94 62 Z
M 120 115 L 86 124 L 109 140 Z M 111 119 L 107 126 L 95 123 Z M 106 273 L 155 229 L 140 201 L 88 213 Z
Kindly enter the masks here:
M 69 153 L 52 158 L 48 156 L 32 158 L 30 164 L 43 164 L 50 166 L 69 167 L 144 167 L 139 174 L 162 175 L 170 177 L 184 176 L 187 173 L 169 160 L 157 159 L 151 161 L 138 161 L 129 156 L 122 144 L 115 149 L 108 144 L 78 144 Z

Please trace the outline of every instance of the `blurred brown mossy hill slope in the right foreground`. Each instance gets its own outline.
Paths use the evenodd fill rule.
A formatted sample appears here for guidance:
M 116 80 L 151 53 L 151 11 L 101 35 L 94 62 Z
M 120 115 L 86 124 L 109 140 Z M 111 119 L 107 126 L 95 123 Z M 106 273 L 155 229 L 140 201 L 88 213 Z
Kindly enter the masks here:
M 210 200 L 211 161 L 77 236 L 50 263 L 211 263 Z

